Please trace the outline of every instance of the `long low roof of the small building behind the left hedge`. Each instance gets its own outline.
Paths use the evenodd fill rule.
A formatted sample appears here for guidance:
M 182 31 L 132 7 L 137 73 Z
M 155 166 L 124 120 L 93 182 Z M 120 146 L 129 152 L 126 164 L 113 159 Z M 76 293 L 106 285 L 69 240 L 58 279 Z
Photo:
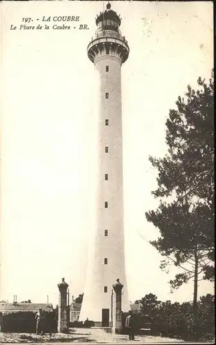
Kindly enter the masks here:
M 33 311 L 37 312 L 41 308 L 43 311 L 53 311 L 52 304 L 46 303 L 2 303 L 0 302 L 0 311 L 4 313 L 17 313 L 19 311 Z

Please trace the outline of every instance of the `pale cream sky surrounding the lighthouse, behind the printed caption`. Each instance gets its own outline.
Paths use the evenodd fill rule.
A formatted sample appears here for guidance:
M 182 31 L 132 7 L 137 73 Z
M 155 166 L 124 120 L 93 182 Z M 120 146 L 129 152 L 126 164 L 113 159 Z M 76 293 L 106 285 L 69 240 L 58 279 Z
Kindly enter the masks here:
M 112 1 L 130 55 L 122 66 L 124 221 L 131 302 L 193 299 L 193 282 L 170 293 L 163 259 L 148 241 L 145 212 L 159 200 L 150 155 L 166 154 L 170 108 L 188 84 L 213 68 L 213 3 Z M 57 304 L 65 277 L 70 299 L 84 291 L 94 224 L 97 128 L 95 67 L 86 48 L 105 1 L 3 1 L 1 14 L 1 293 Z M 79 16 L 74 30 L 19 30 L 22 18 Z M 37 18 L 39 21 L 37 21 Z M 79 30 L 86 23 L 88 30 Z M 50 26 L 55 23 L 50 23 Z M 10 26 L 17 30 L 10 30 Z M 69 24 L 71 25 L 71 23 Z M 94 87 L 95 85 L 95 87 Z M 213 284 L 199 282 L 199 295 Z

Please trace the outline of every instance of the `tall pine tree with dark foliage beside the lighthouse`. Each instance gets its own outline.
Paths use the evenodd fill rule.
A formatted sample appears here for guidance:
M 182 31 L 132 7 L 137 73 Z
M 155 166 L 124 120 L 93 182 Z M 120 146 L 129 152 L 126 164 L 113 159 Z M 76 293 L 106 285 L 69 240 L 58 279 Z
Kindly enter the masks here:
M 146 219 L 160 231 L 150 242 L 168 264 L 182 268 L 170 280 L 172 288 L 198 276 L 213 280 L 214 268 L 214 83 L 197 80 L 199 90 L 188 85 L 186 100 L 178 97 L 177 110 L 170 110 L 166 121 L 168 153 L 164 158 L 150 157 L 158 170 L 157 210 Z M 167 198 L 173 201 L 166 202 Z

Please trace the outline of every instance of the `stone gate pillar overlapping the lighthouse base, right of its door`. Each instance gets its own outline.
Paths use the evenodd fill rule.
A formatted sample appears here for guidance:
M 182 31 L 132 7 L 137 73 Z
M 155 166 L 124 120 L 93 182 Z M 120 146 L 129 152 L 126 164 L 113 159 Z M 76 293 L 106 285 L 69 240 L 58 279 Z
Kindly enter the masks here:
M 116 279 L 112 285 L 112 333 L 121 333 L 121 290 L 123 285 Z

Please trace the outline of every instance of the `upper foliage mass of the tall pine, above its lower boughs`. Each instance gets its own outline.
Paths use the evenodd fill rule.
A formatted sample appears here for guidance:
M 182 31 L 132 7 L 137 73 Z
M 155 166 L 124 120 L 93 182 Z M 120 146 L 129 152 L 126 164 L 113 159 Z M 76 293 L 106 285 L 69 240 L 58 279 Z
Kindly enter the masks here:
M 214 83 L 197 80 L 201 90 L 188 85 L 187 101 L 178 97 L 177 110 L 170 110 L 166 121 L 168 155 L 150 157 L 158 168 L 155 197 L 188 195 L 213 206 L 214 195 Z

